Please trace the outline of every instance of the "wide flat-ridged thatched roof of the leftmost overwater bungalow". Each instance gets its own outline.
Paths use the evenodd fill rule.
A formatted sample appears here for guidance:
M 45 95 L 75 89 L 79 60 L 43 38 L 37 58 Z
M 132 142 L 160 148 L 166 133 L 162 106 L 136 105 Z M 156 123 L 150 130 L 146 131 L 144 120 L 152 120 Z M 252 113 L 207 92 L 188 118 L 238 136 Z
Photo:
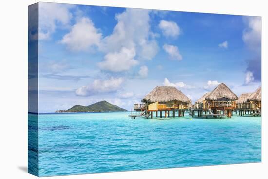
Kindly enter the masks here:
M 141 102 L 147 102 L 148 100 L 150 102 L 181 101 L 191 103 L 191 99 L 172 86 L 156 86 Z

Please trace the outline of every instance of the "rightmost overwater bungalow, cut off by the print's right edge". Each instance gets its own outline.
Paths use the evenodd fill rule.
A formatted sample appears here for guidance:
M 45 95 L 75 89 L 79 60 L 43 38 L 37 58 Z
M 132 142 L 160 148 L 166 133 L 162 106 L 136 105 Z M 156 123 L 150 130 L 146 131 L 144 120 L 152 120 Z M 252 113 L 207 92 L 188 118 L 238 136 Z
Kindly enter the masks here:
M 255 92 L 251 93 L 247 101 L 250 102 L 250 105 L 252 105 L 253 112 L 257 112 L 261 114 L 262 88 L 259 87 Z

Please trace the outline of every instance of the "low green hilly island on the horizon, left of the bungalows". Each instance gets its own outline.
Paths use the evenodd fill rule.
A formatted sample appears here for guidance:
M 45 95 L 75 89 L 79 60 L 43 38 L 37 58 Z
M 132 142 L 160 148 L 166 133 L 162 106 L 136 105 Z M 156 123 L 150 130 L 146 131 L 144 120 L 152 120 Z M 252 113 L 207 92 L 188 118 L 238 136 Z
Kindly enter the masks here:
M 120 108 L 116 105 L 110 104 L 107 101 L 100 101 L 89 106 L 75 105 L 67 110 L 58 110 L 56 113 L 64 112 L 110 112 L 110 111 L 127 111 L 126 109 Z

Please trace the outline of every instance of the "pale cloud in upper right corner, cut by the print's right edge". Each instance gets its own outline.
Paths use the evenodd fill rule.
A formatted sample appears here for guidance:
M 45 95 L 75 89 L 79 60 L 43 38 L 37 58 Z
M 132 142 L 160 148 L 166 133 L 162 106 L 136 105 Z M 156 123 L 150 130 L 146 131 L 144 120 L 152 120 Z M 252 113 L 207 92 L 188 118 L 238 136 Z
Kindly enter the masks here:
M 246 45 L 255 50 L 261 47 L 261 17 L 247 16 L 243 18 L 246 28 L 243 31 L 242 40 Z

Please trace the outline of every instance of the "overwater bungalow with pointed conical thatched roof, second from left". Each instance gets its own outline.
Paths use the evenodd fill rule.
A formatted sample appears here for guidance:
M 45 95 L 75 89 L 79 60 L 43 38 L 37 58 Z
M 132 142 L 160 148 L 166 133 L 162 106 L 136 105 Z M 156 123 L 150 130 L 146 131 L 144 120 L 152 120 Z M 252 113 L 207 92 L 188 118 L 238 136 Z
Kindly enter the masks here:
M 232 111 L 236 108 L 235 101 L 238 97 L 224 83 L 219 84 L 210 94 L 205 97 L 203 109 L 213 111 L 213 115 L 226 114 L 231 118 Z

